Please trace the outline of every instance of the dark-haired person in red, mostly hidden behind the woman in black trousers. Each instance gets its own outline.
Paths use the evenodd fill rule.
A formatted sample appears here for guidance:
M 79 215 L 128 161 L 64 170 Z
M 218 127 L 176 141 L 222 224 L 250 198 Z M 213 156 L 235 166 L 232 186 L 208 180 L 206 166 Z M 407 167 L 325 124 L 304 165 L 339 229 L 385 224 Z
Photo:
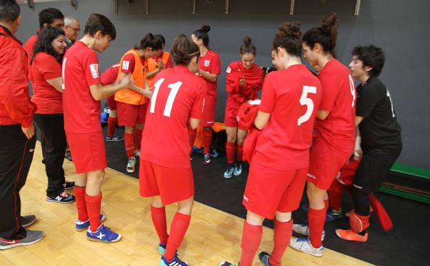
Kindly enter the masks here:
M 28 55 L 29 66 L 33 56 L 33 50 L 35 50 L 37 36 L 43 30 L 43 28 L 47 28 L 47 27 L 59 27 L 64 30 L 64 15 L 57 8 L 46 8 L 41 10 L 41 12 L 39 12 L 39 30 L 37 30 L 37 33 L 35 35 L 32 35 L 32 37 L 30 37 L 26 41 L 26 44 L 24 44 L 24 50 L 26 50 L 26 53 Z M 32 75 L 31 75 L 31 68 L 29 70 L 30 71 L 29 71 L 28 79 L 30 79 L 30 82 L 33 82 Z

